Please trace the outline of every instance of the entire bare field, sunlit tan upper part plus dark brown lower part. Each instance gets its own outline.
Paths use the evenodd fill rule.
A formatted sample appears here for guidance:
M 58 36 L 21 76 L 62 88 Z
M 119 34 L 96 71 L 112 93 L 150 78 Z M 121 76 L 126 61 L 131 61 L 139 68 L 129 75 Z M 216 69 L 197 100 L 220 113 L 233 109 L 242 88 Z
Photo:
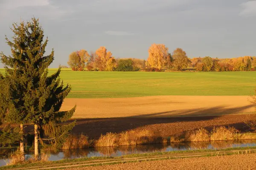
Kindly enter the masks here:
M 234 126 L 245 132 L 255 108 L 248 96 L 150 96 L 66 99 L 63 110 L 77 104 L 73 133 L 98 139 L 108 132 L 150 130 L 162 137 L 205 127 Z

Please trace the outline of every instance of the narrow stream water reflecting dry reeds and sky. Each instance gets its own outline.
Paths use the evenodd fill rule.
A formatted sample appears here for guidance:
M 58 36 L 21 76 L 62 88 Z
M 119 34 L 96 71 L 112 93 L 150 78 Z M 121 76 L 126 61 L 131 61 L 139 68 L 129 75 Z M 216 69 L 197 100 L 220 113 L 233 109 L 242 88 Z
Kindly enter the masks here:
M 116 147 L 91 147 L 85 149 L 61 150 L 59 152 L 51 152 L 49 160 L 56 161 L 61 159 L 75 159 L 92 156 L 123 156 L 134 153 L 152 153 L 152 152 L 168 152 L 174 150 L 199 150 L 199 149 L 224 149 L 229 147 L 248 147 L 256 146 L 256 140 L 241 141 L 213 141 L 213 142 L 186 142 L 186 143 L 170 143 L 170 144 L 145 144 L 131 146 Z M 10 149 L 0 149 L 1 158 L 0 166 L 6 165 L 6 154 L 10 153 Z M 27 153 L 27 157 L 33 153 Z

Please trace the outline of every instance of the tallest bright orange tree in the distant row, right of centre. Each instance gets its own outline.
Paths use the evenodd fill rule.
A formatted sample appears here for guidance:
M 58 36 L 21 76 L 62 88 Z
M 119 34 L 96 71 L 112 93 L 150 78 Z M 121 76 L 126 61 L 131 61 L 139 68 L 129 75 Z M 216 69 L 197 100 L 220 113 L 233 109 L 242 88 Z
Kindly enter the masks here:
M 148 64 L 151 68 L 164 68 L 168 58 L 168 48 L 164 44 L 152 44 L 148 49 Z

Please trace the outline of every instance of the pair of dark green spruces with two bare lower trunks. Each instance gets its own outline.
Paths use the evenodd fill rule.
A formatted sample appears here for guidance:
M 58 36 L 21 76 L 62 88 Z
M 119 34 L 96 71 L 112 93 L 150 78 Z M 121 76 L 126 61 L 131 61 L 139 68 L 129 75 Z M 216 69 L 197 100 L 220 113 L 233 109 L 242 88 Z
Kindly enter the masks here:
M 65 97 L 71 91 L 59 78 L 61 68 L 48 75 L 48 66 L 54 60 L 54 51 L 44 55 L 48 38 L 38 19 L 14 23 L 13 37 L 6 42 L 11 48 L 11 56 L 0 53 L 0 61 L 5 65 L 5 75 L 0 74 L 0 145 L 20 144 L 20 154 L 25 160 L 25 141 L 33 136 L 34 159 L 40 159 L 40 148 L 61 147 L 76 121 L 65 123 L 73 116 L 70 111 L 60 111 Z M 33 126 L 33 133 L 27 130 Z M 26 140 L 25 140 L 26 139 Z

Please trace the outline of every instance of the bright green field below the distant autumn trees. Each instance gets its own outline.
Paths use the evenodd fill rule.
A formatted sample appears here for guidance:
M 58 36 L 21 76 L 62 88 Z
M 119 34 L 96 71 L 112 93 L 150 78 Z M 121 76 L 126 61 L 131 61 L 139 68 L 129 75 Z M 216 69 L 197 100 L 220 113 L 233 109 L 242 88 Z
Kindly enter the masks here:
M 4 72 L 0 70 L 0 72 Z M 49 74 L 55 70 L 49 71 Z M 89 72 L 62 71 L 72 85 L 69 98 L 113 98 L 159 95 L 247 96 L 256 72 Z

